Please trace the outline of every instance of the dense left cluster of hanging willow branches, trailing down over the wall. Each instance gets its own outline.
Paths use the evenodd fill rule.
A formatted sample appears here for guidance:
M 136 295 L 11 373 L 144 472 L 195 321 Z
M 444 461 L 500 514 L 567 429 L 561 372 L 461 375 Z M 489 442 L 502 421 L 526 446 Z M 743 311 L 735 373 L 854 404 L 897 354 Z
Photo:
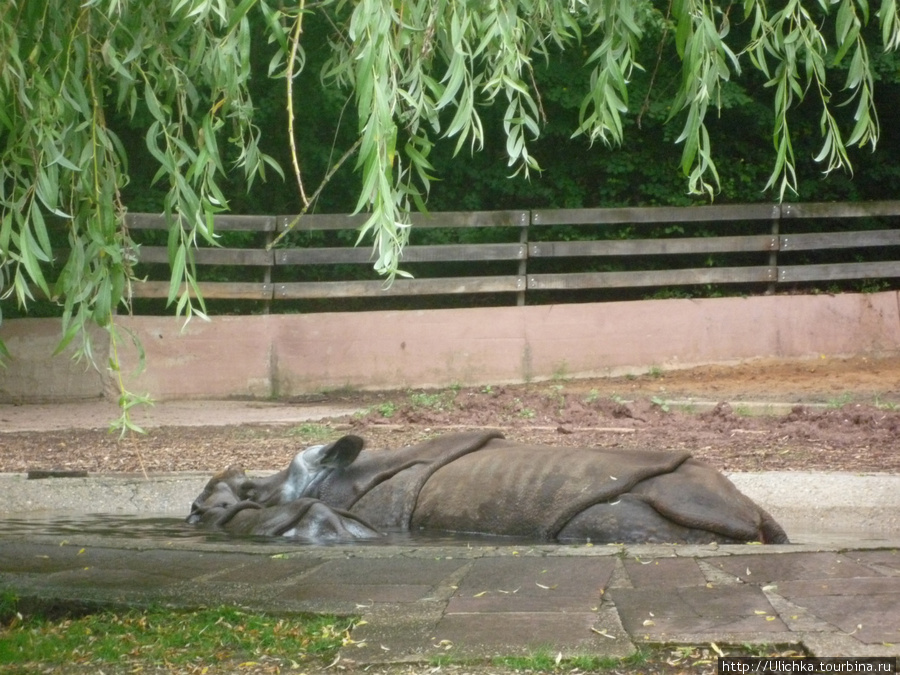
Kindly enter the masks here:
M 106 327 L 127 304 L 134 244 L 121 189 L 128 157 L 106 112 L 150 120 L 146 143 L 167 188 L 169 301 L 190 317 L 193 244 L 214 240 L 227 208 L 219 180 L 223 138 L 238 147 L 248 180 L 274 163 L 257 147 L 247 95 L 250 31 L 228 2 L 9 0 L 0 8 L 0 292 L 27 307 L 35 294 L 62 305 L 62 350 L 76 337 L 93 361 L 85 327 Z M 280 169 L 279 169 L 280 170 Z M 51 228 L 68 247 L 51 248 Z M 45 270 L 63 256 L 58 275 Z M 5 349 L 4 349 L 5 351 Z M 105 357 L 100 363 L 105 365 Z M 118 369 L 116 359 L 110 364 Z M 117 373 L 118 374 L 118 373 Z M 119 379 L 121 385 L 121 379 Z M 139 397 L 121 386 L 127 413 Z M 123 428 L 130 424 L 127 414 Z

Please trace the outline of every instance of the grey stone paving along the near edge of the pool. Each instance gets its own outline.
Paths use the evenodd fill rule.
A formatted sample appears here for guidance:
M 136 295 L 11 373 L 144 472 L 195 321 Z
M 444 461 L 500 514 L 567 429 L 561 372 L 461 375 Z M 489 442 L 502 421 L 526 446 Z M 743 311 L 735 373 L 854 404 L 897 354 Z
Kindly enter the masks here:
M 361 616 L 358 663 L 642 643 L 767 642 L 900 655 L 898 548 L 266 546 L 0 537 L 0 591 Z M 770 551 L 775 551 L 774 553 Z

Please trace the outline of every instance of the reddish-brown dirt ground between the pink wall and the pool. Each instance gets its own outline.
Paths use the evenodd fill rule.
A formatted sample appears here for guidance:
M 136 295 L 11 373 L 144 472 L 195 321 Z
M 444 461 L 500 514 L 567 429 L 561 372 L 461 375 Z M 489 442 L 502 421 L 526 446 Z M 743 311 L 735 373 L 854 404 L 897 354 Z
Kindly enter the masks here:
M 78 428 L 0 433 L 0 472 L 280 469 L 298 449 L 343 433 L 377 449 L 475 427 L 551 445 L 686 448 L 726 471 L 900 472 L 900 356 L 440 391 L 338 391 L 285 405 L 364 412 L 299 426 L 163 426 L 121 439 Z

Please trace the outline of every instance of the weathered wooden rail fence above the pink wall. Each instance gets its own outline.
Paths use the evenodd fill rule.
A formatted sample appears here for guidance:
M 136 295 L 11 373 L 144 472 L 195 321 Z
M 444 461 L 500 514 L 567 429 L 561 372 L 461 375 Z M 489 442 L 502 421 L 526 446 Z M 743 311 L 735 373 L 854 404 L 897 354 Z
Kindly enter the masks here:
M 201 246 L 195 262 L 211 271 L 200 275 L 204 297 L 266 307 L 448 294 L 500 294 L 521 305 L 540 302 L 544 291 L 720 284 L 774 292 L 900 277 L 898 218 L 900 201 L 417 214 L 412 232 L 426 241 L 440 233 L 442 243 L 414 237 L 401 263 L 414 278 L 386 286 L 371 270 L 370 247 L 353 245 L 364 215 L 305 216 L 271 250 L 294 216 L 222 216 L 216 231 L 244 233 L 240 246 Z M 151 214 L 129 214 L 127 222 L 138 241 L 139 231 L 146 240 L 166 227 Z M 718 234 L 723 230 L 728 234 Z M 134 296 L 166 297 L 166 247 L 142 244 L 139 260 L 138 274 L 148 280 L 135 285 Z

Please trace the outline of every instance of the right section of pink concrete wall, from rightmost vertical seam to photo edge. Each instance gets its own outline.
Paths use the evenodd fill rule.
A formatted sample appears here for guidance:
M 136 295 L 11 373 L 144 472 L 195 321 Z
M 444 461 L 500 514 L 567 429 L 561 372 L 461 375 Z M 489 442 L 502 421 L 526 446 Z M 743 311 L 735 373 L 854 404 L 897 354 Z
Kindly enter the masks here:
M 526 335 L 546 377 L 607 375 L 752 358 L 900 349 L 895 292 L 644 300 L 530 307 Z

